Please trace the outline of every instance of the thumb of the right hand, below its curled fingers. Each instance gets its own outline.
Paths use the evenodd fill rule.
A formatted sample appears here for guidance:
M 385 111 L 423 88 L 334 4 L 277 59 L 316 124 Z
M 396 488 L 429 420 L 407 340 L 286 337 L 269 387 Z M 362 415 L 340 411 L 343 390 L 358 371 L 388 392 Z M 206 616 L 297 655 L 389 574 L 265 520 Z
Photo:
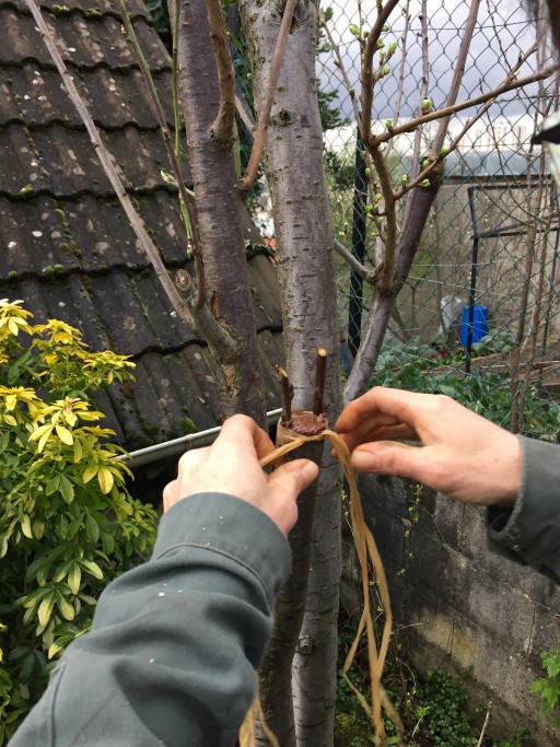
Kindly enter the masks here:
M 424 447 L 398 441 L 362 444 L 352 452 L 352 464 L 361 472 L 409 477 L 421 481 L 425 471 Z

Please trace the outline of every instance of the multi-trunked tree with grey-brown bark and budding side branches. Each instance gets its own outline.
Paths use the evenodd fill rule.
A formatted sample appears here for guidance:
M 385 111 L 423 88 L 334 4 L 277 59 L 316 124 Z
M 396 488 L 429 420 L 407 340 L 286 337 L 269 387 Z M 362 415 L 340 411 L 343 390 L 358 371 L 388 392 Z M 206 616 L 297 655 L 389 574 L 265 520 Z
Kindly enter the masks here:
M 31 0 L 28 3 L 34 5 Z M 476 100 L 457 103 L 479 8 L 480 0 L 470 2 L 445 104 L 433 109 L 428 96 L 430 60 L 425 33 L 419 73 L 423 79 L 418 92 L 419 114 L 412 120 L 400 122 L 396 110 L 381 133 L 373 126 L 374 89 L 390 73 L 387 61 L 398 48 L 396 43 L 384 48 L 383 35 L 393 14 L 404 10 L 408 17 L 410 0 L 377 0 L 374 17 L 369 22 L 360 13 L 360 24 L 352 30 L 362 59 L 360 97 L 354 93 L 330 34 L 339 69 L 352 95 L 366 153 L 369 214 L 375 223 L 383 254 L 383 261 L 371 272 L 357 266 L 343 247 L 340 248 L 353 261 L 354 269 L 375 283 L 366 330 L 346 386 L 347 399 L 364 390 L 373 372 L 392 306 L 410 270 L 442 182 L 445 155 L 457 147 L 464 135 L 445 144 L 452 114 L 478 107 L 466 131 L 499 94 L 552 72 L 548 69 L 520 78 L 533 48 L 515 63 L 508 65 L 509 72 L 501 85 Z M 180 102 L 196 201 L 197 277 L 184 278 L 183 294 L 167 279 L 167 292 L 186 323 L 206 334 L 221 364 L 224 415 L 244 411 L 264 423 L 265 405 L 240 221 L 243 190 L 250 187 L 264 152 L 273 203 L 285 367 L 294 387 L 294 406 L 313 408 L 316 349 L 323 346 L 329 353 L 325 400 L 334 420 L 342 405 L 342 393 L 334 242 L 314 68 L 319 12 L 308 0 L 240 0 L 240 10 L 250 49 L 258 122 L 254 152 L 241 184 L 233 159 L 234 72 L 222 4 L 219 0 L 179 0 L 177 7 L 170 2 L 170 16 L 177 20 Z M 427 0 L 422 0 L 421 13 L 425 22 Z M 433 120 L 439 120 L 436 135 L 420 162 L 422 127 Z M 386 143 L 405 131 L 417 133 L 412 170 L 395 186 L 387 167 L 390 149 Z M 182 197 L 186 205 L 189 198 Z M 404 203 L 399 208 L 404 215 L 400 224 L 399 203 Z M 138 231 L 141 233 L 141 226 Z M 143 242 L 150 250 L 145 236 Z M 164 268 L 159 267 L 158 271 L 165 280 Z M 319 452 L 312 453 L 316 460 L 322 458 Z M 302 518 L 292 538 L 294 558 L 300 563 L 294 563 L 289 582 L 293 596 L 282 602 L 288 612 L 280 614 L 279 618 L 285 628 L 275 633 L 275 650 L 261 677 L 265 712 L 282 746 L 332 744 L 340 575 L 339 492 L 339 474 L 327 454 L 323 459 L 315 517 L 312 510 L 315 497 L 307 494 L 302 501 L 302 509 L 311 509 L 301 512 Z M 260 742 L 266 744 L 266 737 L 261 735 Z

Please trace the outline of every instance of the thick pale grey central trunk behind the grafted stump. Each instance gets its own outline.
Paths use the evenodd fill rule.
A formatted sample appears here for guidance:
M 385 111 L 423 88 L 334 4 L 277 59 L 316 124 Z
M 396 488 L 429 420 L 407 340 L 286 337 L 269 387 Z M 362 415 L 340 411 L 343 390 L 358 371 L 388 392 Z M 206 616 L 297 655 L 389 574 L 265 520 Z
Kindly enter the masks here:
M 268 90 L 282 4 L 272 0 L 244 0 L 241 10 L 252 49 L 255 102 L 259 112 Z M 316 35 L 317 7 L 301 0 L 268 122 L 265 167 L 272 197 L 287 369 L 294 386 L 294 407 L 313 407 L 315 351 L 324 346 L 329 354 L 325 401 L 334 421 L 341 407 L 340 335 L 316 96 Z M 340 482 L 330 450 L 325 452 L 307 603 L 292 667 L 298 744 L 310 747 L 332 744 L 336 695 Z

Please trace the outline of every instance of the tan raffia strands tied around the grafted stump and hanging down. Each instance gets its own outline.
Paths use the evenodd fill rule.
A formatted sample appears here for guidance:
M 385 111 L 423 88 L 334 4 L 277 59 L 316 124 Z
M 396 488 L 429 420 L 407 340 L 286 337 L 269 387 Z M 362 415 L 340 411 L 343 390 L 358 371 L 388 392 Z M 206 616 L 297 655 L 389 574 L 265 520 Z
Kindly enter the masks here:
M 300 416 L 302 413 L 300 412 Z M 316 416 L 308 413 L 314 420 Z M 326 420 L 325 420 L 326 424 Z M 382 719 L 382 709 L 385 710 L 387 716 L 393 721 L 397 730 L 397 734 L 400 739 L 402 739 L 402 724 L 398 713 L 390 703 L 382 684 L 381 678 L 383 674 L 383 667 L 385 665 L 385 658 L 387 655 L 387 649 L 390 640 L 390 632 L 393 628 L 393 614 L 390 609 L 390 598 L 387 587 L 387 579 L 385 575 L 385 570 L 381 560 L 381 556 L 377 550 L 377 546 L 373 538 L 370 528 L 368 527 L 362 510 L 362 501 L 360 499 L 360 493 L 358 492 L 355 470 L 350 460 L 350 452 L 345 441 L 328 429 L 322 430 L 323 425 L 318 424 L 317 433 L 314 435 L 302 435 L 298 431 L 291 428 L 285 428 L 282 423 L 278 423 L 277 430 L 277 444 L 278 448 L 260 459 L 261 467 L 279 466 L 282 464 L 284 457 L 299 448 L 303 444 L 324 441 L 327 439 L 332 446 L 332 451 L 339 459 L 345 477 L 348 482 L 349 495 L 350 495 L 350 522 L 352 528 L 352 536 L 355 545 L 355 551 L 358 555 L 358 560 L 360 563 L 360 572 L 362 579 L 362 595 L 363 595 L 363 610 L 358 626 L 358 632 L 355 639 L 348 652 L 345 665 L 342 667 L 342 675 L 350 686 L 350 688 L 355 693 L 360 704 L 366 712 L 368 716 L 372 721 L 375 728 L 375 742 L 377 745 L 382 745 L 385 740 L 385 728 Z M 378 594 L 381 597 L 381 603 L 383 607 L 383 614 L 385 617 L 383 632 L 380 640 L 380 645 L 377 643 L 374 634 L 374 622 L 372 618 L 371 610 L 371 588 L 370 585 L 376 583 Z M 348 677 L 348 670 L 350 669 L 352 662 L 354 661 L 362 633 L 365 630 L 368 640 L 368 660 L 370 668 L 371 678 L 371 701 L 358 690 L 355 685 Z M 259 719 L 262 722 L 262 709 L 260 702 L 257 700 L 254 708 L 247 715 L 242 730 L 240 732 L 240 744 L 241 747 L 252 747 L 255 745 L 255 719 Z M 264 732 L 272 747 L 279 745 L 278 739 L 275 735 L 270 733 L 270 730 L 262 724 Z M 400 743 L 402 744 L 402 742 Z

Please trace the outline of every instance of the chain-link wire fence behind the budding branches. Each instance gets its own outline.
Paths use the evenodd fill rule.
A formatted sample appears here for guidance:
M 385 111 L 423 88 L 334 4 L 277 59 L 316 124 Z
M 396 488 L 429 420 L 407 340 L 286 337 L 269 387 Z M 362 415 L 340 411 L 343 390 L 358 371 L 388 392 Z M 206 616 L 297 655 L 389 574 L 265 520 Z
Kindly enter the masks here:
M 400 3 L 374 59 L 385 68 L 375 84 L 376 131 L 445 105 L 470 4 Z M 369 207 L 375 205 L 375 175 L 370 178 L 368 172 L 352 97 L 359 108 L 360 39 L 366 38 L 376 10 L 374 3 L 368 10 L 335 3 L 325 15 L 319 87 L 338 92 L 335 101 L 345 119 L 325 135 L 335 235 L 373 269 L 383 259 Z M 384 65 L 383 50 L 386 56 L 390 48 Z M 516 0 L 487 0 L 457 101 L 511 82 L 520 60 L 516 80 L 549 65 L 546 35 L 536 32 Z M 458 140 L 457 148 L 446 157 L 446 177 L 398 295 L 374 380 L 447 393 L 502 425 L 555 439 L 560 427 L 558 200 L 530 138 L 557 108 L 557 84 L 550 77 L 494 98 L 478 119 L 482 103 L 450 120 L 446 141 Z M 405 132 L 385 145 L 394 185 L 410 176 L 415 138 L 423 157 L 436 126 L 430 122 L 419 136 Z M 342 258 L 337 281 L 350 363 L 373 291 Z

